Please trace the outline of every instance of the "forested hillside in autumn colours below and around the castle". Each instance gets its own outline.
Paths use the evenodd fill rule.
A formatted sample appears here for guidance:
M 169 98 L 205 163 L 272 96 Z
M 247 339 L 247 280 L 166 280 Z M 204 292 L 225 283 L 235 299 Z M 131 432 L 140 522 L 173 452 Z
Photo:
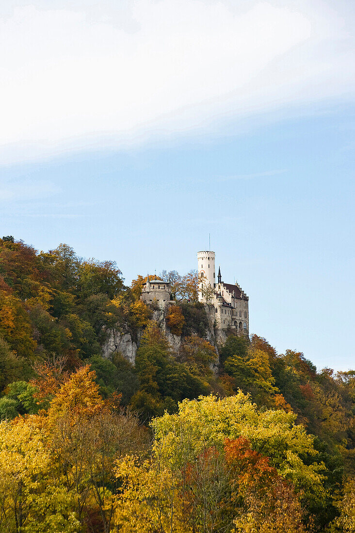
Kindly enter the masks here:
M 355 371 L 214 345 L 196 273 L 161 276 L 165 330 L 142 276 L 0 239 L 0 532 L 355 531 Z

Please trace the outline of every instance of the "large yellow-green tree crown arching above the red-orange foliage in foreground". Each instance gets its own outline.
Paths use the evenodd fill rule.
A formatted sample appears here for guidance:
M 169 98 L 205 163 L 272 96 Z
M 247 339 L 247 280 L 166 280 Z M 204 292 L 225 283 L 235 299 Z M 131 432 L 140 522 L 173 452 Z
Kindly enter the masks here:
M 192 461 L 210 446 L 222 450 L 226 438 L 246 437 L 254 451 L 268 456 L 281 477 L 294 484 L 296 492 L 302 491 L 307 505 L 322 504 L 324 464 L 317 462 L 313 438 L 295 425 L 295 419 L 293 413 L 281 410 L 258 410 L 242 392 L 223 399 L 210 395 L 184 400 L 177 414 L 154 419 L 154 446 L 164 441 L 167 457 L 181 467 L 181 440 L 189 442 Z

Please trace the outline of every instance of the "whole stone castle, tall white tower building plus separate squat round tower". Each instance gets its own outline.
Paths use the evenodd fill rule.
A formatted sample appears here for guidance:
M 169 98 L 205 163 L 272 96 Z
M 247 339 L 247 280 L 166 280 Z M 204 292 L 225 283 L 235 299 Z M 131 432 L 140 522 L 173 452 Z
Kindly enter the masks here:
M 249 298 L 237 284 L 222 281 L 218 268 L 216 283 L 216 254 L 211 251 L 198 252 L 199 301 L 215 309 L 218 329 L 233 328 L 240 335 L 249 335 Z M 141 300 L 146 304 L 155 302 L 165 308 L 171 301 L 171 287 L 168 281 L 156 276 L 143 283 Z

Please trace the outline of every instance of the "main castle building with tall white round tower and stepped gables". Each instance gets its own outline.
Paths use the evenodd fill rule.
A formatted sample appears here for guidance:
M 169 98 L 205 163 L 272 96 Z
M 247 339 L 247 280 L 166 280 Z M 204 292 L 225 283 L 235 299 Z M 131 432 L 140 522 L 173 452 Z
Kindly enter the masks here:
M 249 297 L 238 283 L 222 281 L 220 268 L 216 280 L 215 257 L 215 252 L 198 252 L 199 300 L 214 306 L 217 329 L 233 328 L 249 335 Z

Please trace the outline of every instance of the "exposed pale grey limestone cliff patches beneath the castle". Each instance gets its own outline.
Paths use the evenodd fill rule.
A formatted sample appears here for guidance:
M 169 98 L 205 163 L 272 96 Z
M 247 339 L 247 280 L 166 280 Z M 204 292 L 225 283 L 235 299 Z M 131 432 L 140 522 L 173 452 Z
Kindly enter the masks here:
M 169 302 L 170 304 L 170 302 Z M 173 304 L 173 302 L 171 302 Z M 152 319 L 157 322 L 157 325 L 161 331 L 167 337 L 167 341 L 171 346 L 171 351 L 175 354 L 179 353 L 180 346 L 183 343 L 184 337 L 180 335 L 173 335 L 170 331 L 170 328 L 167 326 L 165 320 L 166 314 L 169 310 L 170 305 L 167 305 L 161 309 L 157 309 L 153 312 Z M 204 309 L 207 314 L 208 319 L 208 328 L 206 331 L 206 340 L 215 346 L 218 354 L 217 342 L 223 343 L 225 339 L 220 338 L 224 332 L 218 331 L 218 338 L 215 336 L 214 324 L 215 324 L 215 308 L 212 305 L 205 305 Z M 104 345 L 102 346 L 102 355 L 106 358 L 112 357 L 112 353 L 121 352 L 122 356 L 127 359 L 132 365 L 135 364 L 137 349 L 139 348 L 140 338 L 143 334 L 142 330 L 138 330 L 137 340 L 134 339 L 131 333 L 125 331 L 122 332 L 121 329 L 113 328 L 108 330 L 107 337 Z M 224 335 L 226 336 L 226 335 Z

